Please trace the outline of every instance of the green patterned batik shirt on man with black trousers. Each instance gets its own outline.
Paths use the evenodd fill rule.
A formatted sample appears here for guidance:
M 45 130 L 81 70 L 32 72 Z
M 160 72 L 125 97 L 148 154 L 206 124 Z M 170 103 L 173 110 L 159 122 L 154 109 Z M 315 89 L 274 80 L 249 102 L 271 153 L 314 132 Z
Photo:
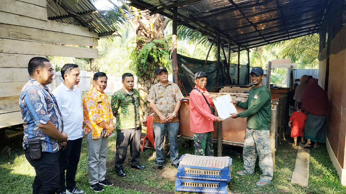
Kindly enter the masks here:
M 134 129 L 140 126 L 140 97 L 137 89 L 132 89 L 132 94 L 129 95 L 125 88 L 121 88 L 112 95 L 110 104 L 116 115 L 117 129 Z

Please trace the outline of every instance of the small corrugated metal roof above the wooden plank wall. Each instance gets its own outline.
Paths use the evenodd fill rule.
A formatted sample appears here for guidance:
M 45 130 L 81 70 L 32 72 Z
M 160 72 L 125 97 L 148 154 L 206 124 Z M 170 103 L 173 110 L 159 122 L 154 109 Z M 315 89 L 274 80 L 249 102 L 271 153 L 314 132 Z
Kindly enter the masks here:
M 75 3 L 47 0 L 48 19 L 88 27 L 101 36 L 117 35 L 115 27 L 102 16 L 90 0 Z

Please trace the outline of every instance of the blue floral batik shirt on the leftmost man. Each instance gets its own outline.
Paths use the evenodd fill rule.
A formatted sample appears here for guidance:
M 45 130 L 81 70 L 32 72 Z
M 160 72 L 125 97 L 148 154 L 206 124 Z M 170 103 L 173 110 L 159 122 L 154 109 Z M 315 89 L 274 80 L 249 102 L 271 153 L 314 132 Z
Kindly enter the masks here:
M 23 147 L 28 147 L 30 139 L 40 139 L 42 152 L 58 152 L 61 148 L 58 141 L 44 134 L 37 125 L 46 124 L 49 120 L 60 133 L 63 132 L 63 119 L 55 97 L 47 86 L 30 78 L 20 93 L 19 107 L 24 120 Z

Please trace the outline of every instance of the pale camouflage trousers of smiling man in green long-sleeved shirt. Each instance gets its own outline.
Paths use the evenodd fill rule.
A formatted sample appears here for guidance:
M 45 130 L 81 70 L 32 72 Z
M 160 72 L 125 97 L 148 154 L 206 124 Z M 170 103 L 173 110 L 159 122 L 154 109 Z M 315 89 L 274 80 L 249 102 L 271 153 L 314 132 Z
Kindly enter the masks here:
M 243 168 L 246 174 L 254 174 L 258 155 L 258 165 L 262 170 L 260 178 L 266 181 L 273 179 L 273 158 L 270 149 L 269 133 L 269 130 L 247 128 L 243 148 Z

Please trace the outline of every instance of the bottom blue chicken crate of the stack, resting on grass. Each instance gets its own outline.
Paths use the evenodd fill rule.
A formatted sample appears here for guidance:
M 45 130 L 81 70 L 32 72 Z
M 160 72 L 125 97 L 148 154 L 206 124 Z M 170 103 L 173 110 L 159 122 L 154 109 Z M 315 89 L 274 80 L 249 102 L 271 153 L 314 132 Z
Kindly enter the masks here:
M 227 182 L 204 181 L 194 179 L 180 179 L 175 181 L 175 191 L 198 192 L 198 193 L 228 193 Z

